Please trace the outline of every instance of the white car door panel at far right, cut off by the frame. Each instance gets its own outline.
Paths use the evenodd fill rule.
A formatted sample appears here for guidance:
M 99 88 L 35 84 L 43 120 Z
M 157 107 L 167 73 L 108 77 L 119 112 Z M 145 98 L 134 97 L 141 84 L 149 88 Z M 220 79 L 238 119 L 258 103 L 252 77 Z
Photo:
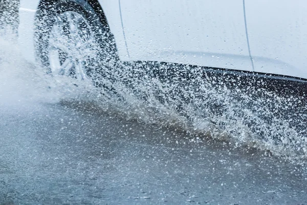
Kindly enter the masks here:
M 255 71 L 307 78 L 307 2 L 246 1 Z

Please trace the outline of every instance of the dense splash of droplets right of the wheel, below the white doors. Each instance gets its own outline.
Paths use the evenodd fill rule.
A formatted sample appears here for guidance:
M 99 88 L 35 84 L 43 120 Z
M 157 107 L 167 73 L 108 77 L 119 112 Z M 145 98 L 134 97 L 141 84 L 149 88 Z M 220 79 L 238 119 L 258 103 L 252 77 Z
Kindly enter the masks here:
M 116 97 L 107 101 L 128 117 L 291 159 L 307 157 L 305 95 L 196 66 L 138 62 L 116 70 L 117 80 L 109 82 Z

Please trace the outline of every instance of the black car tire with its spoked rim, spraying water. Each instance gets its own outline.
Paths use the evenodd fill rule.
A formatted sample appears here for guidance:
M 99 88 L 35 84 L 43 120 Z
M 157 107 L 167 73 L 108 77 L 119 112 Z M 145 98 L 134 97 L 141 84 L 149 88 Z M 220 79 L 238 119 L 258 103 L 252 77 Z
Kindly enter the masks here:
M 95 86 L 110 87 L 119 58 L 107 23 L 100 22 L 84 0 L 48 2 L 36 14 L 39 65 L 56 78 L 73 79 L 74 84 L 91 81 Z

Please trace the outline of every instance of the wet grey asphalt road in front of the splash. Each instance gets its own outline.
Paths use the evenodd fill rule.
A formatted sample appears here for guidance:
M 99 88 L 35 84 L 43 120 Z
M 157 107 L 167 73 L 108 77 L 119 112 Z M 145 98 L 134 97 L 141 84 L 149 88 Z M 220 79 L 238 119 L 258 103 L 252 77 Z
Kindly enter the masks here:
M 0 107 L 0 204 L 307 204 L 306 175 L 264 152 L 15 97 Z

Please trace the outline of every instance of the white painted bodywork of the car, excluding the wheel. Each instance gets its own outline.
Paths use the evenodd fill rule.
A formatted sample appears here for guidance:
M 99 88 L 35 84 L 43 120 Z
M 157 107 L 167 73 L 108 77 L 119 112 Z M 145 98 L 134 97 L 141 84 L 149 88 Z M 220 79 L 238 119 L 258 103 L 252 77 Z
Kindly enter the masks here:
M 103 9 L 122 61 L 162 61 L 307 79 L 305 1 L 87 1 Z M 20 0 L 19 9 L 19 45 L 33 63 L 39 3 Z

